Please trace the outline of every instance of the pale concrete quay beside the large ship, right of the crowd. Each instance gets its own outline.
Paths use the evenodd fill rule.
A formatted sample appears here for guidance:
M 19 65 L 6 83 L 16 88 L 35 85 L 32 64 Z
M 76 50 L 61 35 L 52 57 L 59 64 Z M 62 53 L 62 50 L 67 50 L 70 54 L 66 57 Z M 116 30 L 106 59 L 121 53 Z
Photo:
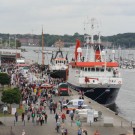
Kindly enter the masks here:
M 73 99 L 79 98 L 80 95 L 78 95 L 77 91 L 72 90 L 72 92 Z M 82 123 L 82 128 L 87 129 L 90 135 L 93 134 L 95 130 L 98 130 L 100 135 L 133 135 L 133 127 L 135 127 L 135 124 L 127 121 L 119 114 L 116 114 L 115 112 L 86 96 L 84 100 L 87 105 L 91 106 L 97 111 L 102 112 L 102 116 L 97 122 L 94 122 L 91 125 L 86 122 Z M 113 123 L 111 125 L 105 125 L 104 119 L 106 117 L 113 119 Z

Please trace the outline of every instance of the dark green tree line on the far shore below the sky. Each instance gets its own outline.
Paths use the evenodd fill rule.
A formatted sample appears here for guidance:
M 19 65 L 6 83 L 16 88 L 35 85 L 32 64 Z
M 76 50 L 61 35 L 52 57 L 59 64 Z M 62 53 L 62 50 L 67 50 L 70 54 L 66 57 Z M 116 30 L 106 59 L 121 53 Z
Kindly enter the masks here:
M 10 34 L 0 34 L 3 42 L 6 42 L 9 39 Z M 17 46 L 21 46 L 19 39 L 21 38 L 33 38 L 39 40 L 39 45 L 42 45 L 42 35 L 31 35 L 31 34 L 12 34 L 12 37 L 16 36 L 18 43 Z M 52 46 L 56 41 L 62 40 L 64 42 L 75 43 L 76 39 L 80 39 L 81 42 L 84 41 L 84 36 L 79 33 L 74 33 L 74 35 L 50 35 L 44 34 L 44 43 L 45 46 Z M 102 36 L 102 41 L 112 42 L 114 47 L 121 46 L 122 48 L 134 48 L 135 47 L 135 33 L 123 33 L 113 36 Z M 13 42 L 13 41 L 12 41 Z M 13 43 L 12 43 L 13 44 Z M 66 44 L 65 44 L 66 46 Z

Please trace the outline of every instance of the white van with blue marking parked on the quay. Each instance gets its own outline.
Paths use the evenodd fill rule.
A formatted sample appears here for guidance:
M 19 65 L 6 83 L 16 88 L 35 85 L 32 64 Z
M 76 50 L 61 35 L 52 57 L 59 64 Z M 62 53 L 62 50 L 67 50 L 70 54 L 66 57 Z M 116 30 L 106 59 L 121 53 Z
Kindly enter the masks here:
M 84 100 L 83 99 L 73 99 L 70 100 L 68 103 L 64 103 L 63 108 L 68 108 L 68 109 L 78 109 L 80 107 L 84 107 L 87 106 L 84 104 Z

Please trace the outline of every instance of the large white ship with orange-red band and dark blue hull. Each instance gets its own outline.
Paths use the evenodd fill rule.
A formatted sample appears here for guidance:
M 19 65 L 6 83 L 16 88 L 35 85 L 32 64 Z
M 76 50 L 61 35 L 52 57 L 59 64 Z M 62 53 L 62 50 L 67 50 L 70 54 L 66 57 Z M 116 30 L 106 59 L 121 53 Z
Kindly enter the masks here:
M 114 50 L 112 50 L 112 60 L 107 61 L 107 52 L 103 49 L 100 34 L 95 40 L 93 23 L 90 28 L 91 34 L 84 36 L 87 47 L 85 52 L 77 40 L 74 61 L 69 63 L 67 82 L 74 90 L 81 90 L 87 97 L 109 106 L 115 103 L 122 85 L 119 65 L 114 60 Z

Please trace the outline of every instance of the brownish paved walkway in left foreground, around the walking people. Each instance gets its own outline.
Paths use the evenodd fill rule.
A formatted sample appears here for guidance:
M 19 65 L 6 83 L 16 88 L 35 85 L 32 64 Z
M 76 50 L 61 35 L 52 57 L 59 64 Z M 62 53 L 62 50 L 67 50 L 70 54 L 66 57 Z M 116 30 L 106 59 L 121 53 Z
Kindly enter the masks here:
M 59 100 L 59 97 L 54 98 L 55 101 Z M 55 130 L 56 122 L 55 122 L 55 114 L 50 114 L 49 108 L 47 108 L 47 115 L 48 115 L 48 123 L 43 124 L 42 126 L 36 125 L 36 123 L 32 123 L 30 120 L 29 122 L 26 120 L 25 116 L 25 123 L 21 121 L 21 117 L 19 117 L 19 121 L 15 122 L 14 125 L 14 117 L 3 117 L 0 120 L 5 124 L 5 126 L 0 127 L 0 135 L 7 130 L 9 132 L 11 130 L 15 135 L 21 135 L 23 129 L 26 132 L 26 135 L 57 135 L 58 133 Z M 59 112 L 59 111 L 57 111 Z M 65 111 L 64 111 L 65 112 Z M 66 113 L 66 112 L 65 112 Z M 68 129 L 69 135 L 77 134 L 77 126 L 75 123 L 71 125 L 71 120 L 68 114 L 66 114 L 66 121 L 62 124 L 65 128 Z M 61 133 L 59 133 L 61 134 Z

